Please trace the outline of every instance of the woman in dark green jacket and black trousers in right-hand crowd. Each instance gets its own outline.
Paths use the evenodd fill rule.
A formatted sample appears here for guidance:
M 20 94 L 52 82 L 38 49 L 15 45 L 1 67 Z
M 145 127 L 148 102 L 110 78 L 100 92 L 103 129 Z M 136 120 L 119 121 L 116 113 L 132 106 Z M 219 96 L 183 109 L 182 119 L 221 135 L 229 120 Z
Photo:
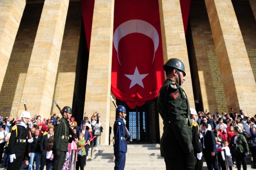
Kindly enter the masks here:
M 231 154 L 236 159 L 237 169 L 241 170 L 241 162 L 243 165 L 243 170 L 246 170 L 246 154 L 249 154 L 249 147 L 244 135 L 241 135 L 239 128 L 234 129 L 235 136 L 231 138 Z

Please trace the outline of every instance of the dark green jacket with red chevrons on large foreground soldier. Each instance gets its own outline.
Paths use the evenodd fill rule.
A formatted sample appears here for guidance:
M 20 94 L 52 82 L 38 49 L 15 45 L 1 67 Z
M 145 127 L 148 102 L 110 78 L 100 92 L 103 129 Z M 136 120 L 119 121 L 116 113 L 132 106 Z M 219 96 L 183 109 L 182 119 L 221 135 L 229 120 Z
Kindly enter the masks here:
M 164 133 L 160 142 L 164 158 L 185 158 L 193 151 L 189 102 L 183 89 L 171 79 L 161 87 L 157 109 L 164 120 Z

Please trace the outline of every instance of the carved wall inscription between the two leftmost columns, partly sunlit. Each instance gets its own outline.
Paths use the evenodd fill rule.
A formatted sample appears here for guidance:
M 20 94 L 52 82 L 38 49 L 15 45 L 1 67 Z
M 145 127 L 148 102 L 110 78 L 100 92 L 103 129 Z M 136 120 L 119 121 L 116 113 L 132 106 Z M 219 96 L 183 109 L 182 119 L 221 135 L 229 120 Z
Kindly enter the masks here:
M 31 48 L 13 51 L 8 63 L 0 93 L 0 113 L 16 116 L 32 53 Z

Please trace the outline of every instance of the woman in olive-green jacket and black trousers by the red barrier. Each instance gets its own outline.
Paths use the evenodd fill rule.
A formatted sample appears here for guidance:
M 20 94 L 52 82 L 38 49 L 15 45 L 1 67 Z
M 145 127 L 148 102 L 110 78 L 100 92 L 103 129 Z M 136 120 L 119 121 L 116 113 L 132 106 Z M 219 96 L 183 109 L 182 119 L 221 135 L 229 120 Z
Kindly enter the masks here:
M 82 147 L 85 144 L 85 140 L 84 140 L 84 134 L 81 132 L 79 133 L 79 143 L 77 143 L 77 149 Z M 82 154 L 79 155 L 77 152 L 77 162 L 76 162 L 76 170 L 83 170 L 84 169 L 84 164 L 85 164 L 85 159 L 86 159 L 86 152 L 85 152 L 85 148 L 82 147 L 80 150 L 82 150 Z

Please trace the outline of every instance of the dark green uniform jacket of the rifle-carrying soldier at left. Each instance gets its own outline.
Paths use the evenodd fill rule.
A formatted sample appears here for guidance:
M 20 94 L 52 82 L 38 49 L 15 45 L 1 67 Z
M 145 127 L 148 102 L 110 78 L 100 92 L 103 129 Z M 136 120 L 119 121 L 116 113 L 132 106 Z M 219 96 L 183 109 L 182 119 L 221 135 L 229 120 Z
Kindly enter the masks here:
M 55 124 L 53 150 L 60 150 L 60 151 L 67 152 L 67 144 L 68 142 L 71 142 L 73 140 L 73 138 L 67 139 L 67 137 L 71 134 L 68 127 L 69 127 L 69 123 L 67 119 L 65 119 L 64 117 L 62 117 Z M 64 136 L 64 139 L 62 136 Z M 75 138 L 75 136 L 73 137 Z

